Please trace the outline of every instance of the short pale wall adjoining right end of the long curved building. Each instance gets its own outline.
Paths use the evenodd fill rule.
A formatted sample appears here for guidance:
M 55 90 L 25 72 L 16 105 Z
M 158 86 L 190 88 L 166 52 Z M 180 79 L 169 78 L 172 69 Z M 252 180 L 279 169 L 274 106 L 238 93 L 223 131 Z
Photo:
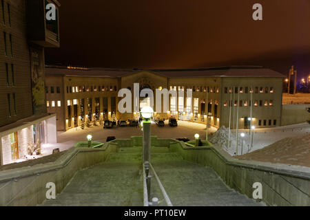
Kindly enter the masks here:
M 281 125 L 298 124 L 310 120 L 307 108 L 310 108 L 310 104 L 283 104 Z

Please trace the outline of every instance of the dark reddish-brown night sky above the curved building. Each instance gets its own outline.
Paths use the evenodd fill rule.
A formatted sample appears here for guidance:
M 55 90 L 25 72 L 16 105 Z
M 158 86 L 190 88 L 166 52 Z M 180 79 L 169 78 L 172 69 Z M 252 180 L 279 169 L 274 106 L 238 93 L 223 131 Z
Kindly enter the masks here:
M 310 74 L 310 0 L 59 0 L 46 63 L 192 68 L 262 65 Z M 252 19 L 262 4 L 263 21 Z

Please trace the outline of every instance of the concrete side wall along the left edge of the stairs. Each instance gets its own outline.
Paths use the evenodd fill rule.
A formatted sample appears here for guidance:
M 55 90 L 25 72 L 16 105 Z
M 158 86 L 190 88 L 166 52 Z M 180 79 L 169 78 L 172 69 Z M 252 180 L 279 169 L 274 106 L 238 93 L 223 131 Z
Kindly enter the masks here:
M 56 162 L 37 164 L 0 172 L 0 206 L 37 206 L 46 199 L 48 182 L 56 185 L 59 194 L 76 171 L 104 162 L 117 144 L 103 148 L 71 148 Z

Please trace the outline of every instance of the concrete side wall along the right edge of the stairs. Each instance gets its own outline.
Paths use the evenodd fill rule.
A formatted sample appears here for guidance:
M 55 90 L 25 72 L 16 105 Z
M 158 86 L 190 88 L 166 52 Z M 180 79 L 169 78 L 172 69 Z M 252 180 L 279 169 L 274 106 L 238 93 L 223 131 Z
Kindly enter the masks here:
M 253 184 L 260 182 L 262 201 L 269 206 L 310 206 L 310 168 L 240 161 L 217 146 L 188 147 L 172 142 L 170 149 L 186 160 L 210 166 L 229 187 L 250 198 Z

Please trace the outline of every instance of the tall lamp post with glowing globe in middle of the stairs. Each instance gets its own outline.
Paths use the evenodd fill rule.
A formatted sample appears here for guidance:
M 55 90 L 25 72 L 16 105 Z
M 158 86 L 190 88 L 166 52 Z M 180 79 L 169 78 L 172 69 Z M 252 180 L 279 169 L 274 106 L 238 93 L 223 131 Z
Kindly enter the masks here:
M 143 117 L 143 164 L 150 161 L 151 151 L 151 120 L 154 111 L 151 107 L 145 106 L 141 109 Z

